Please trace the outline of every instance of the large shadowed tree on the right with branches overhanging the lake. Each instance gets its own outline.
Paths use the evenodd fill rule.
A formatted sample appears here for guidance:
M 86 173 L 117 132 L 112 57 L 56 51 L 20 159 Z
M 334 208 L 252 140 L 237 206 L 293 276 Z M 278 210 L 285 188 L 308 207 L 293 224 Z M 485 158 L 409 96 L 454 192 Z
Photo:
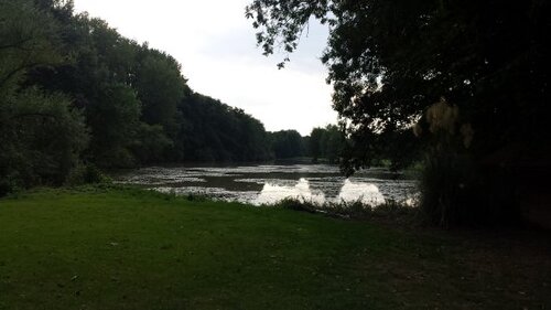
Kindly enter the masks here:
M 422 148 L 431 161 L 452 152 L 457 163 L 471 162 L 467 165 L 477 175 L 471 179 L 478 181 L 458 178 L 453 186 L 462 188 L 494 183 L 495 171 L 484 172 L 488 162 L 500 169 L 504 160 L 512 160 L 517 164 L 508 169 L 515 170 L 522 161 L 519 157 L 525 161 L 549 158 L 544 111 L 550 12 L 549 1 L 539 0 L 255 0 L 246 9 L 259 29 L 257 39 L 264 54 L 278 45 L 293 52 L 311 18 L 329 26 L 322 61 L 349 140 L 347 172 L 369 165 L 381 154 L 407 164 L 414 158 L 403 154 Z M 435 121 L 431 125 L 428 111 L 439 103 L 457 110 L 450 135 L 431 130 Z M 424 133 L 417 141 L 411 133 L 414 124 L 418 133 Z M 443 137 L 456 140 L 445 151 L 437 147 Z M 465 140 L 469 142 L 462 143 Z M 521 149 L 530 149 L 531 156 L 521 154 Z M 504 152 L 505 157 L 497 156 Z M 444 165 L 436 170 L 445 173 Z M 469 194 L 471 199 L 500 207 L 494 197 L 503 193 L 487 186 L 483 191 Z M 441 205 L 442 195 L 425 203 Z M 455 205 L 446 209 L 469 207 L 456 203 L 461 200 L 449 201 Z M 463 221 L 450 213 L 439 216 L 441 223 Z

